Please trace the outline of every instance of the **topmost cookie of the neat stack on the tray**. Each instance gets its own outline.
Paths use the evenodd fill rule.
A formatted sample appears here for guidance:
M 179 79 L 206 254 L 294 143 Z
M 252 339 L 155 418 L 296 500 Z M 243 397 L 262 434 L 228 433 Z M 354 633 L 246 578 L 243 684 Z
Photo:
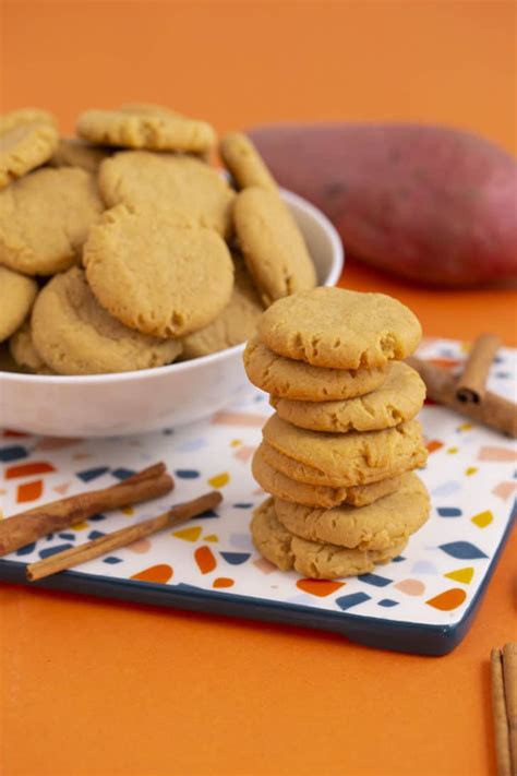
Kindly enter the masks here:
M 280 356 L 334 369 L 384 367 L 410 356 L 421 335 L 397 299 L 329 287 L 278 300 L 258 324 L 261 342 Z

